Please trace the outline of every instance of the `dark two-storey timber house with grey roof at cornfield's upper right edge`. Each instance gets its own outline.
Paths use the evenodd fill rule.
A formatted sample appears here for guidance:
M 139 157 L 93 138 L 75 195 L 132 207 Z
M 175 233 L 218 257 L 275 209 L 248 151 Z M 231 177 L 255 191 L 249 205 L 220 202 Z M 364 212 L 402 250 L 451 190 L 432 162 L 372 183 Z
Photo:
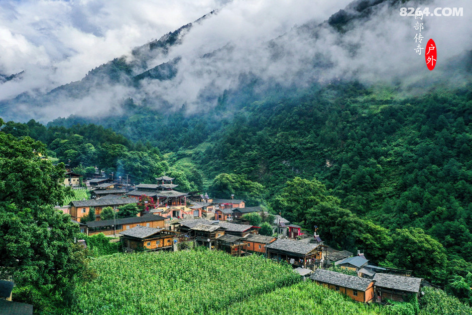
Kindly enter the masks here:
M 295 267 L 314 269 L 319 267 L 323 246 L 290 239 L 278 239 L 266 245 L 267 257 L 284 260 Z

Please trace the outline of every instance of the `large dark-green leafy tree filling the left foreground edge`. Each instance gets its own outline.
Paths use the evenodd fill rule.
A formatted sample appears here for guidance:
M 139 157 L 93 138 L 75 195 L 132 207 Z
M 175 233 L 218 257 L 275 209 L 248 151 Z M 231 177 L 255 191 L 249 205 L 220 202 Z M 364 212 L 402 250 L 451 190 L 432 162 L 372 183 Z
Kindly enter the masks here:
M 65 194 L 64 167 L 40 159 L 44 148 L 0 132 L 0 278 L 13 277 L 16 301 L 53 313 L 73 303 L 87 259 L 73 243 L 78 226 L 54 208 Z

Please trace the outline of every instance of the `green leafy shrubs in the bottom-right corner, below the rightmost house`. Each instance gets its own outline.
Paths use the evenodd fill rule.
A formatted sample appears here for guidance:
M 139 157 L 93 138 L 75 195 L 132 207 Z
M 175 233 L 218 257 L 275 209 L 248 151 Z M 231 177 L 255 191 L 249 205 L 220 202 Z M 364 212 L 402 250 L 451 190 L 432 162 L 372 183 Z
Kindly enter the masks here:
M 420 300 L 420 315 L 465 315 L 472 314 L 472 308 L 443 290 L 430 287 L 421 289 L 425 294 Z

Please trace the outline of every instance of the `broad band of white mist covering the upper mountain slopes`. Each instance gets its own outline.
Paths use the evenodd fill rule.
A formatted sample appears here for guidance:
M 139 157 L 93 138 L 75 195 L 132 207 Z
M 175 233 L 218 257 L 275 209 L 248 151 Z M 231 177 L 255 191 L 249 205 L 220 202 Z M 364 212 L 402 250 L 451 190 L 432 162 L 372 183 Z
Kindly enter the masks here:
M 406 93 L 438 83 L 463 85 L 472 49 L 468 19 L 424 17 L 423 34 L 435 40 L 440 58 L 429 71 L 424 56 L 414 52 L 414 17 L 399 15 L 403 6 L 380 0 L 232 1 L 47 93 L 33 88 L 12 95 L 25 78 L 2 80 L 0 111 L 20 121 L 98 119 L 127 113 L 124 104 L 132 99 L 137 107 L 192 114 L 212 111 L 223 95 L 246 93 L 255 100 L 268 91 L 290 93 L 339 80 L 389 84 Z M 441 7 L 441 2 L 408 2 L 408 7 L 424 6 Z M 470 4 L 454 6 L 466 14 Z

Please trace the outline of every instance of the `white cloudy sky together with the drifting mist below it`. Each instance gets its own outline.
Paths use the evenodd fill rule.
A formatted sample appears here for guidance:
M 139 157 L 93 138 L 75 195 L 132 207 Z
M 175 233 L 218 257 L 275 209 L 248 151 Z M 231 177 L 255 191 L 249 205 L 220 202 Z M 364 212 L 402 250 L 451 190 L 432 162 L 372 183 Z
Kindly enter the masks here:
M 128 56 L 134 47 L 174 31 L 201 16 L 217 14 L 195 25 L 168 55 L 149 60 L 149 68 L 180 57 L 177 76 L 168 81 L 144 80 L 138 90 L 130 86 L 109 86 L 82 99 L 58 98 L 32 113 L 44 120 L 57 116 L 103 113 L 103 108 L 126 97 L 139 101 L 152 96 L 165 106 L 183 103 L 201 106 L 202 93 L 217 96 L 234 87 L 241 73 L 254 73 L 267 81 L 297 83 L 309 80 L 359 79 L 366 83 L 448 77 L 448 69 L 429 72 L 424 57 L 413 48 L 414 18 L 401 17 L 388 5 L 381 5 L 368 21 L 350 26 L 344 34 L 324 27 L 313 37 L 294 31 L 305 23 L 317 25 L 350 0 L 0 0 L 0 74 L 25 71 L 21 80 L 0 82 L 0 100 L 22 92 L 38 94 L 59 85 L 80 80 L 85 74 L 115 57 Z M 431 11 L 445 7 L 445 0 L 409 2 L 408 6 Z M 428 17 L 424 35 L 434 38 L 438 58 L 452 60 L 472 49 L 472 2 L 458 0 L 462 17 Z M 288 34 L 285 35 L 284 34 Z M 278 57 L 268 41 L 276 38 Z M 426 43 L 424 43 L 425 45 Z M 216 53 L 212 58 L 205 54 Z M 424 54 L 424 53 L 423 53 Z M 313 68 L 324 63 L 329 68 Z M 203 91 L 203 92 L 202 92 Z M 100 104 L 100 107 L 96 105 Z M 157 104 L 156 106 L 164 106 Z M 211 104 L 210 104 L 211 106 Z M 17 106 L 25 112 L 29 105 Z M 3 114 L 3 113 L 0 113 Z

